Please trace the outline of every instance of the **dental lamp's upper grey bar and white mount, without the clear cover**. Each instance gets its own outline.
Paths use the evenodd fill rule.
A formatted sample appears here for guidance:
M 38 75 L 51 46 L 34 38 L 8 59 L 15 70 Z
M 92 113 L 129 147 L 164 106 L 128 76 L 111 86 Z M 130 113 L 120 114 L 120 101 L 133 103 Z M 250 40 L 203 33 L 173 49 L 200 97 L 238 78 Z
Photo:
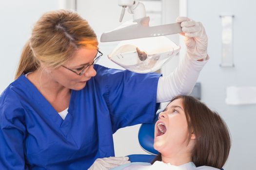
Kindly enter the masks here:
M 150 27 L 150 17 L 146 17 L 145 6 L 139 0 L 118 0 L 118 5 L 122 7 L 119 21 L 122 21 L 126 8 L 128 8 L 129 13 L 133 14 L 133 20 L 124 22 L 114 30 L 104 32 L 100 37 L 100 42 L 154 37 L 182 32 L 180 23 Z

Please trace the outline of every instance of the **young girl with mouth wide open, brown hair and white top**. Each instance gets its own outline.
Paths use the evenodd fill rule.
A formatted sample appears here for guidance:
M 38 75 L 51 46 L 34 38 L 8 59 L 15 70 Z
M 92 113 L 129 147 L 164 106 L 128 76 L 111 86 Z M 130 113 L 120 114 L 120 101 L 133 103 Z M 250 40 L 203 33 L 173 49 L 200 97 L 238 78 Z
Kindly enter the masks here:
M 152 165 L 134 164 L 123 170 L 218 170 L 231 147 L 220 116 L 191 96 L 177 96 L 159 114 Z M 120 169 L 120 170 L 121 170 Z

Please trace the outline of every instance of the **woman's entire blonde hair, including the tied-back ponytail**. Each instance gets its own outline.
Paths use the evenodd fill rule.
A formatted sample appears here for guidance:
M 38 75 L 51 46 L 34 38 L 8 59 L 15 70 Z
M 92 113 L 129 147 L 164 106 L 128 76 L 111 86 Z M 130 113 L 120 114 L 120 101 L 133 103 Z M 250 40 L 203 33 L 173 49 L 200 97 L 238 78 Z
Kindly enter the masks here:
M 15 79 L 37 70 L 41 63 L 58 68 L 80 47 L 98 49 L 97 36 L 85 19 L 68 10 L 45 13 L 23 47 Z

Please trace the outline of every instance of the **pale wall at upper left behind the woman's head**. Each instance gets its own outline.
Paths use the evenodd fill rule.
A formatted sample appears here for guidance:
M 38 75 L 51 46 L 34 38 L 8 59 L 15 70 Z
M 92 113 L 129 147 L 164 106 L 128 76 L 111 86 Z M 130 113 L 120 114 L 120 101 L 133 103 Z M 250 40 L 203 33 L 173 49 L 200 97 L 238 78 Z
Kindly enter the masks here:
M 14 80 L 23 45 L 33 24 L 59 0 L 0 0 L 0 93 Z

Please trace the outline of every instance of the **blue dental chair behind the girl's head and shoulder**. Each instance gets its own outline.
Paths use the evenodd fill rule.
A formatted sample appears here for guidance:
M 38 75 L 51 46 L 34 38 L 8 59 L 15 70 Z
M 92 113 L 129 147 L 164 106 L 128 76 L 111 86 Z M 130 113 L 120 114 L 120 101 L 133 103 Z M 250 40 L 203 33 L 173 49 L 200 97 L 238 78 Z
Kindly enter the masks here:
M 147 162 L 151 163 L 156 155 L 158 155 L 158 151 L 154 149 L 154 133 L 155 133 L 155 123 L 158 120 L 158 114 L 162 112 L 163 109 L 159 109 L 156 113 L 156 117 L 154 119 L 154 123 L 144 123 L 141 124 L 138 131 L 138 141 L 140 147 L 149 154 L 131 154 L 127 155 L 131 162 Z M 220 169 L 224 170 L 224 169 Z

